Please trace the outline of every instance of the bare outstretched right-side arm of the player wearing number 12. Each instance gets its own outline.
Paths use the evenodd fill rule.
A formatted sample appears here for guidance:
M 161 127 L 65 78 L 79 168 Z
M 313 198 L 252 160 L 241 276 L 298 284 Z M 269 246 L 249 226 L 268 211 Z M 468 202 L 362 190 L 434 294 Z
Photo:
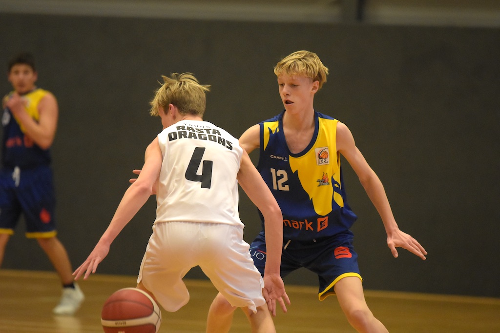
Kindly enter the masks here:
M 361 185 L 380 215 L 385 227 L 385 232 L 387 233 L 387 245 L 394 258 L 397 258 L 396 247 L 402 247 L 421 259 L 425 259 L 424 255 L 426 255 L 427 252 L 425 252 L 423 247 L 410 235 L 399 230 L 394 216 L 392 215 L 392 210 L 390 209 L 382 182 L 356 147 L 350 130 L 341 122 L 337 123 L 336 144 L 337 150 L 347 162 L 349 162 L 350 166 L 359 177 Z

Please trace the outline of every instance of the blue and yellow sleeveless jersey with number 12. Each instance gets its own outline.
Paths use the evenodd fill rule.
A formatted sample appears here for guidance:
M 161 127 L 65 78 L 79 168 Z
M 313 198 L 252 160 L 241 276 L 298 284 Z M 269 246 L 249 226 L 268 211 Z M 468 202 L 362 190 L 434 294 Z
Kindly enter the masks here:
M 312 240 L 346 232 L 357 217 L 347 205 L 343 186 L 335 143 L 338 120 L 314 112 L 309 145 L 292 154 L 283 134 L 283 114 L 259 123 L 257 169 L 281 208 L 284 239 Z

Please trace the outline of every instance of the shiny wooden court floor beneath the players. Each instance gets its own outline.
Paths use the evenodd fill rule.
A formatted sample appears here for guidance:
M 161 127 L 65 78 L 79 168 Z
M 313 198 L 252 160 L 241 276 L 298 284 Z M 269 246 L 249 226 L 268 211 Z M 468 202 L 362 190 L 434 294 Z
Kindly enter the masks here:
M 162 311 L 160 333 L 203 333 L 216 290 L 207 281 L 187 280 L 191 299 L 175 313 Z M 86 299 L 74 316 L 53 316 L 60 289 L 50 272 L 0 270 L 0 333 L 98 333 L 100 310 L 114 291 L 134 287 L 135 277 L 96 274 L 80 282 Z M 315 287 L 286 286 L 292 304 L 275 318 L 283 333 L 355 332 L 335 297 L 317 300 Z M 500 333 L 500 299 L 365 291 L 371 311 L 392 333 Z M 249 332 L 237 311 L 233 333 Z

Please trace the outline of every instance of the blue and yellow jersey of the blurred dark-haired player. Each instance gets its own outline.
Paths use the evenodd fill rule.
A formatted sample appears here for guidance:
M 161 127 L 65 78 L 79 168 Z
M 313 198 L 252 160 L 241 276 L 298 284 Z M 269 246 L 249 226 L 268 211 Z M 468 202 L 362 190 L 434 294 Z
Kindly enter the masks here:
M 36 88 L 22 98 L 26 101 L 26 111 L 38 121 L 38 103 L 48 91 Z M 8 96 L 5 96 L 7 99 Z M 3 126 L 2 165 L 8 168 L 32 168 L 50 164 L 49 150 L 38 147 L 33 140 L 24 134 L 24 128 L 12 116 L 8 107 L 3 109 L 1 118 Z

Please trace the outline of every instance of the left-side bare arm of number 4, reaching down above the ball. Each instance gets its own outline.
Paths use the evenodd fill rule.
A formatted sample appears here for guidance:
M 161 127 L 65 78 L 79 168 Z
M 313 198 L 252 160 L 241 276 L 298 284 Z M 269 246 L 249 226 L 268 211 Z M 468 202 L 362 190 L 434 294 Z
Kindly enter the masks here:
M 106 231 L 104 231 L 88 258 L 74 271 L 75 280 L 83 274 L 83 279 L 87 279 L 90 273 L 95 273 L 97 265 L 107 256 L 109 246 L 113 240 L 151 195 L 151 191 L 161 170 L 162 161 L 163 157 L 159 148 L 158 138 L 156 137 L 147 146 L 144 165 L 140 174 L 137 180 L 125 191 Z

